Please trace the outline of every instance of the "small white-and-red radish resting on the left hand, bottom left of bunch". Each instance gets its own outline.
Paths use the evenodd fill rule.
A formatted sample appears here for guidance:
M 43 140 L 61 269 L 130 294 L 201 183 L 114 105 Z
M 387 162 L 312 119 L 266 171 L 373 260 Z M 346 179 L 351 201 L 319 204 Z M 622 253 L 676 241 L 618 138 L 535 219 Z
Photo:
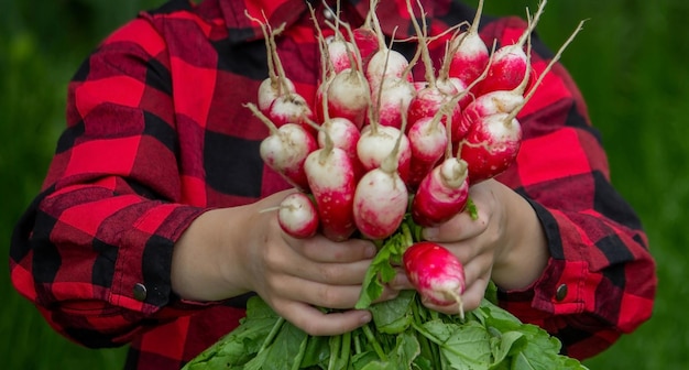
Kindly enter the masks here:
M 292 193 L 280 204 L 280 227 L 293 238 L 310 238 L 318 231 L 318 211 L 305 193 Z

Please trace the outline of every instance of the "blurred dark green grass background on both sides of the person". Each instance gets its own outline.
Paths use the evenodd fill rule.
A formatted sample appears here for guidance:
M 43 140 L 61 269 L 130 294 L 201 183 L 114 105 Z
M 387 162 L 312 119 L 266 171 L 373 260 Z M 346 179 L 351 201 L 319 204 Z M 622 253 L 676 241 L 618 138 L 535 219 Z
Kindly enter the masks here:
M 0 0 L 0 248 L 40 188 L 64 126 L 67 80 L 97 43 L 163 0 Z M 486 12 L 523 14 L 536 1 L 486 0 Z M 539 24 L 557 48 L 581 19 L 562 62 L 588 100 L 609 150 L 612 179 L 638 210 L 658 262 L 654 317 L 591 369 L 689 364 L 689 19 L 687 0 L 550 0 Z M 7 261 L 7 260 L 6 260 Z M 88 350 L 51 330 L 0 274 L 4 369 L 120 369 L 124 349 Z

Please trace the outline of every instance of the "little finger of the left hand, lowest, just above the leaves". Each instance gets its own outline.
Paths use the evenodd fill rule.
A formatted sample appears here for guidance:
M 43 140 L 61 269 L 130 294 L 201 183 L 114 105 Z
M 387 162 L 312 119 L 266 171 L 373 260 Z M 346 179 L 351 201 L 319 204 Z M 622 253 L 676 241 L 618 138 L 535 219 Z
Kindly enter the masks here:
M 371 322 L 371 313 L 368 311 L 324 313 L 298 302 L 285 304 L 278 314 L 311 336 L 336 336 Z

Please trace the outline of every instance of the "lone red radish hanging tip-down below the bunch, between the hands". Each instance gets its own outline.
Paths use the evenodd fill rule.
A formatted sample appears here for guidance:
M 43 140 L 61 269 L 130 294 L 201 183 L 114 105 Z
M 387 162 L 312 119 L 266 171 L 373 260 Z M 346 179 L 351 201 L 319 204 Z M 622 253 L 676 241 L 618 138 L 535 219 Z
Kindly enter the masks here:
M 461 319 L 464 309 L 464 268 L 448 249 L 430 241 L 419 241 L 406 249 L 402 257 L 409 282 L 424 301 L 439 306 L 459 305 Z

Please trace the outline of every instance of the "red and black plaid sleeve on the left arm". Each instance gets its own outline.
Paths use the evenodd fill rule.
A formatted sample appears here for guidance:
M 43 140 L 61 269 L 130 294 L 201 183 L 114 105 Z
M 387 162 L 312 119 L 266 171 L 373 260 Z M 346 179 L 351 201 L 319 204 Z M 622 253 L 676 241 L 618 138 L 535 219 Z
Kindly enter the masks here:
M 86 346 L 127 342 L 187 308 L 171 289 L 172 251 L 204 209 L 181 199 L 167 65 L 143 19 L 90 55 L 68 86 L 43 191 L 13 236 L 14 285 Z

